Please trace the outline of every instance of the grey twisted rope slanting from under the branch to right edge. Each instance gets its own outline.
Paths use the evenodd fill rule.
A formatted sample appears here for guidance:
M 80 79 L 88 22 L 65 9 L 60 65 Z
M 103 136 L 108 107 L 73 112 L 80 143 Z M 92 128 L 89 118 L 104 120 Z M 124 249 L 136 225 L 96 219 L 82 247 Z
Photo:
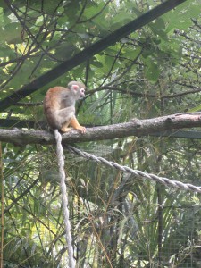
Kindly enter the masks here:
M 80 156 L 82 156 L 84 158 L 87 158 L 87 159 L 94 160 L 97 163 L 104 163 L 105 165 L 108 165 L 108 166 L 110 166 L 112 168 L 121 170 L 122 172 L 128 172 L 128 173 L 133 174 L 135 176 L 138 176 L 140 178 L 146 178 L 147 180 L 152 180 L 152 181 L 155 181 L 155 182 L 162 183 L 166 187 L 180 188 L 180 189 L 185 189 L 185 190 L 188 190 L 188 191 L 201 193 L 201 187 L 194 186 L 194 185 L 192 185 L 190 183 L 183 183 L 183 182 L 180 182 L 178 180 L 170 180 L 168 178 L 158 177 L 155 174 L 148 174 L 148 173 L 141 172 L 141 171 L 138 171 L 138 170 L 132 170 L 128 166 L 122 166 L 122 165 L 120 165 L 118 163 L 114 163 L 114 162 L 111 162 L 111 161 L 109 162 L 103 157 L 97 157 L 96 155 L 88 154 L 86 152 L 80 151 L 78 148 L 75 148 L 75 147 L 68 146 L 68 149 L 71 151 L 71 153 L 80 155 Z

